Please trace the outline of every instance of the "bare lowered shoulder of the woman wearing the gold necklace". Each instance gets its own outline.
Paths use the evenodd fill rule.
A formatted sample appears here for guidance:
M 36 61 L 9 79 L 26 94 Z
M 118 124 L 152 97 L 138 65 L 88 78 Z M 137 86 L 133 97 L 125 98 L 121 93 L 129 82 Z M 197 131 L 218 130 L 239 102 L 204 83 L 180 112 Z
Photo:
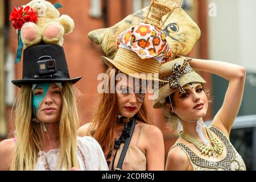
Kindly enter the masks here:
M 171 148 L 168 152 L 166 170 L 167 171 L 187 171 L 189 160 L 187 154 L 180 147 Z

